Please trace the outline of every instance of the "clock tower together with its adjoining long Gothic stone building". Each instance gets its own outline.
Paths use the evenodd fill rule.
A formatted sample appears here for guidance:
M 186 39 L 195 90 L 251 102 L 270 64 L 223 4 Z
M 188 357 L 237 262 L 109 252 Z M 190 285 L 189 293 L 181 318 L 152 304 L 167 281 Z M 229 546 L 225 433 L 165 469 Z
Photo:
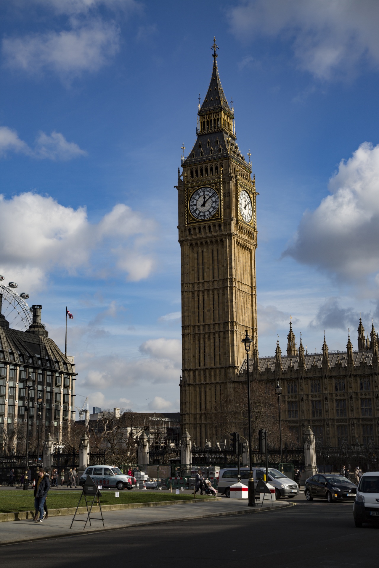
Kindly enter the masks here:
M 217 45 L 202 105 L 196 141 L 178 173 L 178 236 L 181 247 L 182 432 L 198 446 L 227 437 L 215 413 L 246 381 L 241 340 L 253 339 L 253 380 L 282 387 L 281 414 L 302 443 L 308 425 L 323 446 L 370 445 L 379 440 L 378 346 L 360 321 L 358 350 L 348 336 L 346 351 L 320 353 L 295 343 L 290 324 L 286 354 L 260 358 L 256 312 L 256 189 L 250 160 L 237 139 L 234 108 L 222 89 Z M 250 156 L 250 152 L 248 153 Z

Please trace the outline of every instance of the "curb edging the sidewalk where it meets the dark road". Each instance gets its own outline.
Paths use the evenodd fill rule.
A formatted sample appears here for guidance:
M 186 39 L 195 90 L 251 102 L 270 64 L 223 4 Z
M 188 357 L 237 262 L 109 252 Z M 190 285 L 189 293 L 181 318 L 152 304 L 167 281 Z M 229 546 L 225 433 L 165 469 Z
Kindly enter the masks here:
M 204 499 L 203 499 L 204 501 Z M 191 502 L 192 503 L 192 502 Z M 105 532 L 105 531 L 119 531 L 120 529 L 124 529 L 124 528 L 134 528 L 134 527 L 146 527 L 148 525 L 159 525 L 162 523 L 182 523 L 182 521 L 193 521 L 193 520 L 197 520 L 197 519 L 209 519 L 212 517 L 227 517 L 227 516 L 232 516 L 232 515 L 251 515 L 252 513 L 265 513 L 265 512 L 270 512 L 270 511 L 277 511 L 280 509 L 287 509 L 289 507 L 295 507 L 296 503 L 282 503 L 280 504 L 280 506 L 278 507 L 257 507 L 257 508 L 253 508 L 253 509 L 240 509 L 239 511 L 225 511 L 222 513 L 205 513 L 205 515 L 196 515 L 193 517 L 181 517 L 181 519 L 164 519 L 164 520 L 159 520 L 159 521 L 145 521 L 143 523 L 130 523 L 130 524 L 123 524 L 123 525 L 115 525 L 115 527 L 109 527 L 109 528 L 102 528 L 102 529 L 95 529 L 95 530 L 89 530 L 84 532 L 83 530 L 81 531 L 70 531 L 70 532 L 64 532 L 61 534 L 51 534 L 51 535 L 45 535 L 45 536 L 40 536 L 40 537 L 32 537 L 32 538 L 19 538 L 19 539 L 11 539 L 11 540 L 6 540 L 6 541 L 2 541 L 0 542 L 0 546 L 5 546 L 5 545 L 10 545 L 10 544 L 16 544 L 17 542 L 30 542 L 30 541 L 35 541 L 35 540 L 51 540 L 52 538 L 64 538 L 64 537 L 68 537 L 68 536 L 84 536 L 86 534 L 94 534 L 94 533 L 101 533 L 101 532 Z

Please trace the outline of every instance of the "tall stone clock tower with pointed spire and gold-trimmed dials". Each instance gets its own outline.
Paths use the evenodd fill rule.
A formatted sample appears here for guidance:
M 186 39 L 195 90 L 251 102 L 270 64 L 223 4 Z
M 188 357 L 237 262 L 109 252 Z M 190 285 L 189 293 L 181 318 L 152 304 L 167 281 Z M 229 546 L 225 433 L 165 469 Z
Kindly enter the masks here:
M 225 432 L 215 415 L 227 411 L 240 381 L 245 329 L 257 350 L 256 192 L 251 164 L 236 142 L 234 109 L 221 86 L 213 45 L 212 76 L 198 105 L 197 140 L 178 179 L 181 247 L 182 432 L 211 445 Z

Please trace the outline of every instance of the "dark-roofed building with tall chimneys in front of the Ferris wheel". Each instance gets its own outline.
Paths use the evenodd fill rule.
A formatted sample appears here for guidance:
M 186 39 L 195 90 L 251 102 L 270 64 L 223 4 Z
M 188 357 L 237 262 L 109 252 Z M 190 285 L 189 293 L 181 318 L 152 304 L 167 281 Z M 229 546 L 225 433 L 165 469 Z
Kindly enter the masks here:
M 29 428 L 35 435 L 40 428 L 60 442 L 64 428 L 75 420 L 74 381 L 77 373 L 73 357 L 66 357 L 41 323 L 41 306 L 32 306 L 32 324 L 27 331 L 11 329 L 1 314 L 0 294 L 0 444 L 13 439 L 16 450 L 18 425 L 26 423 L 24 397 L 26 380 L 31 377 L 37 389 L 31 391 Z M 41 396 L 40 408 L 37 399 Z M 38 412 L 41 412 L 40 423 Z

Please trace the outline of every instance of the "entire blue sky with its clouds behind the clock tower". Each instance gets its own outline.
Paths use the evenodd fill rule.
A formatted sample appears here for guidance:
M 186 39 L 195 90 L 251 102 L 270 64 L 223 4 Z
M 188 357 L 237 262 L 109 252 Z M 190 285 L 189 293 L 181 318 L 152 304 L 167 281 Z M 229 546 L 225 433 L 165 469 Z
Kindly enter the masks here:
M 219 45 L 256 175 L 259 351 L 379 326 L 379 6 L 8 0 L 0 272 L 76 357 L 90 406 L 178 410 L 177 169 Z M 82 404 L 84 398 L 77 397 Z

